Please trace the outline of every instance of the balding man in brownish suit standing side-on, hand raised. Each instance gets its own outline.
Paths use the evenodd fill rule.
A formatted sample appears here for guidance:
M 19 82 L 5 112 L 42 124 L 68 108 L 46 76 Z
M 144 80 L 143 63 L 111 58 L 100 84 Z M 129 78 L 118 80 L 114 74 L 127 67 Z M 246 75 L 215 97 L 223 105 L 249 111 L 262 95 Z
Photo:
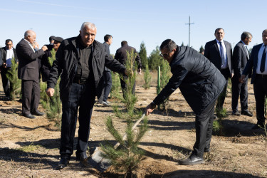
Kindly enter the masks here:
M 36 41 L 36 33 L 28 30 L 24 38 L 16 45 L 16 54 L 19 58 L 18 76 L 21 79 L 22 93 L 22 115 L 28 118 L 35 118 L 33 115 L 43 115 L 38 111 L 40 100 L 38 57 L 47 50 L 43 46 L 35 51 L 33 43 Z

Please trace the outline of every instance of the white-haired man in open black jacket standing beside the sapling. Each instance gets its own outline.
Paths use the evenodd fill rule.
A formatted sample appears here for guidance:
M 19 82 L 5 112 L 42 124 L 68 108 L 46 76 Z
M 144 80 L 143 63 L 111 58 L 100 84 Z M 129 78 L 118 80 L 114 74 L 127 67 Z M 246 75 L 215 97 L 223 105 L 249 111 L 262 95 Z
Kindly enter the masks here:
M 66 167 L 73 154 L 78 108 L 76 159 L 84 165 L 88 164 L 86 150 L 90 134 L 90 118 L 95 96 L 102 92 L 104 67 L 125 73 L 125 67 L 108 55 L 102 43 L 95 41 L 96 31 L 94 23 L 85 22 L 80 28 L 79 36 L 68 38 L 61 43 L 47 81 L 46 93 L 48 96 L 53 96 L 53 88 L 61 75 L 61 160 L 58 169 Z

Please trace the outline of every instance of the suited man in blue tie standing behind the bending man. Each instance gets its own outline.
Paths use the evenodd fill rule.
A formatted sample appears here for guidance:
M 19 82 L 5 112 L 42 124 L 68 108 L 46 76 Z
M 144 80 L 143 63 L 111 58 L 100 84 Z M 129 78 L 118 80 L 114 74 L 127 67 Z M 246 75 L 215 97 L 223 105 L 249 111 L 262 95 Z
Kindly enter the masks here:
M 224 41 L 224 29 L 217 28 L 215 30 L 215 40 L 209 41 L 205 45 L 204 56 L 214 63 L 214 66 L 221 71 L 228 83 L 228 79 L 234 75 L 234 70 L 231 65 L 232 48 L 231 43 Z M 223 109 L 224 99 L 226 97 L 227 83 L 224 91 L 221 93 L 217 100 L 216 112 Z

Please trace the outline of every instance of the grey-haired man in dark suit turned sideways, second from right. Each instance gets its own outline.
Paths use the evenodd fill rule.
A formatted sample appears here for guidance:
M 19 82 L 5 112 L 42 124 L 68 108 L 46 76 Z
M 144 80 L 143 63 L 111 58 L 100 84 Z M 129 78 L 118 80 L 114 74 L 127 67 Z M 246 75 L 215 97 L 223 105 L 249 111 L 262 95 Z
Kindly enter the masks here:
M 248 44 L 251 42 L 252 35 L 244 31 L 241 34 L 241 41 L 236 44 L 233 52 L 233 69 L 234 77 L 232 78 L 232 115 L 240 115 L 239 112 L 239 95 L 241 104 L 241 115 L 252 117 L 248 111 L 248 77 L 244 78 L 244 83 L 239 81 L 242 72 L 249 60 Z

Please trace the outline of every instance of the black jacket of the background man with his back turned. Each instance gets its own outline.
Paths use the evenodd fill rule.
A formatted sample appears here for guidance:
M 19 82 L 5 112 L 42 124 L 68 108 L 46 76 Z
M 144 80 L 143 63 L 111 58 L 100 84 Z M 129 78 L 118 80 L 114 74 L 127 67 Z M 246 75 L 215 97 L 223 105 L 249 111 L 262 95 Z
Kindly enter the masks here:
M 124 44 L 121 48 L 117 49 L 114 58 L 117 59 L 117 61 L 119 61 L 120 63 L 125 64 L 127 60 L 127 52 L 130 53 L 132 49 L 134 50 L 134 53 L 137 53 L 135 48 L 133 48 L 132 46 L 128 46 L 127 44 Z M 137 61 L 137 68 L 142 68 L 141 58 L 139 57 L 138 53 L 135 58 L 135 61 Z

